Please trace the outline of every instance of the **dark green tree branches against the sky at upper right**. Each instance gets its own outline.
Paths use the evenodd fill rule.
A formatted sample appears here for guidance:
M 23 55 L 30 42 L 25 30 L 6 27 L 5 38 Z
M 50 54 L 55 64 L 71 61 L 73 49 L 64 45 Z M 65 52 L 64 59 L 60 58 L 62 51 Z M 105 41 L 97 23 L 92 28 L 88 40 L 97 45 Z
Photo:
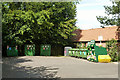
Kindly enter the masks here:
M 120 1 L 112 2 L 112 6 L 104 6 L 107 16 L 97 16 L 97 20 L 103 25 L 120 26 Z

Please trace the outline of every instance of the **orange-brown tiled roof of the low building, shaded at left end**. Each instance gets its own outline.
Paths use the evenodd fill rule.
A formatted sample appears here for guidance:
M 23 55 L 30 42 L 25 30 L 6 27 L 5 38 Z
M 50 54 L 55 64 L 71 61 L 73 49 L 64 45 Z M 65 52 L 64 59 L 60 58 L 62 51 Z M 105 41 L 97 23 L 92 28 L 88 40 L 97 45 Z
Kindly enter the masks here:
M 113 39 L 118 40 L 118 36 L 116 35 L 117 26 L 105 27 L 105 28 L 96 28 L 96 29 L 88 29 L 88 30 L 80 30 L 76 29 L 73 33 L 76 35 L 72 37 L 73 41 L 90 41 L 90 40 L 98 40 L 98 36 L 102 36 L 102 41 L 108 41 Z

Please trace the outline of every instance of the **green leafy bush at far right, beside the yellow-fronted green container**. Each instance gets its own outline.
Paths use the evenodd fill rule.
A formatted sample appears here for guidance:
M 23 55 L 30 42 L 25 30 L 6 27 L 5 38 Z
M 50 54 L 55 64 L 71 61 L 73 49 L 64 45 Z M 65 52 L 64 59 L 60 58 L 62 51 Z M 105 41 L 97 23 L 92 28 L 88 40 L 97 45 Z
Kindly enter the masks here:
M 118 61 L 117 40 L 112 39 L 106 42 L 106 49 L 108 50 L 108 54 L 110 55 L 112 61 Z

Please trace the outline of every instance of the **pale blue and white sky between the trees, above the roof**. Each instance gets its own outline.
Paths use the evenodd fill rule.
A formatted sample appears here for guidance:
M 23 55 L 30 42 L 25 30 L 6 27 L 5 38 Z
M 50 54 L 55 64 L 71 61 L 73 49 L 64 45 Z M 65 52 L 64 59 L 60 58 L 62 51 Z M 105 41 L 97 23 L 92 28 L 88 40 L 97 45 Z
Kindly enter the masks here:
M 96 16 L 105 16 L 104 6 L 111 6 L 110 0 L 81 0 L 77 4 L 76 26 L 82 30 L 100 28 Z

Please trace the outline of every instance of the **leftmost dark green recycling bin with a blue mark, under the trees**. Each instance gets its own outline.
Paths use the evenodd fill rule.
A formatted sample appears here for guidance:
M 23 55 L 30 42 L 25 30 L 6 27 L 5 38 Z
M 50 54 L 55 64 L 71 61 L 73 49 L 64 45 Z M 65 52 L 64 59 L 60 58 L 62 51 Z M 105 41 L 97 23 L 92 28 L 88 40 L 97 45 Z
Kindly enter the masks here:
M 16 47 L 7 46 L 7 56 L 18 56 L 18 50 Z

